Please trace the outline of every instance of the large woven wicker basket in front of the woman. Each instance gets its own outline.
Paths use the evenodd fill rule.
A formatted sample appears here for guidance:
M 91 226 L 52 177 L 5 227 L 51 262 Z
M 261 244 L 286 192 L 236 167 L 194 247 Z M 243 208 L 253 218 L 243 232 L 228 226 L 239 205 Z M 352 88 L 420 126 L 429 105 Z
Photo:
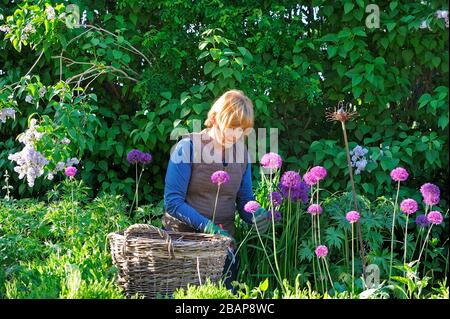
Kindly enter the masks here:
M 229 239 L 200 233 L 164 231 L 136 224 L 110 233 L 113 264 L 128 297 L 155 298 L 187 284 L 217 282 L 223 272 Z

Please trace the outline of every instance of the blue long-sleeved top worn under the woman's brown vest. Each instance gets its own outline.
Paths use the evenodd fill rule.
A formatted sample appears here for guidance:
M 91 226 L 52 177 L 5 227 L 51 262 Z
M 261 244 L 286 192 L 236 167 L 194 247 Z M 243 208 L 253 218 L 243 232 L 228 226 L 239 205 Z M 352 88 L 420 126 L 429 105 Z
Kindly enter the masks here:
M 164 209 L 198 231 L 204 231 L 209 218 L 200 214 L 186 203 L 186 192 L 191 178 L 193 144 L 189 137 L 183 138 L 175 146 L 167 167 L 164 187 Z M 224 163 L 226 165 L 226 163 Z M 241 218 L 251 223 L 252 215 L 244 211 L 244 205 L 255 200 L 252 190 L 252 172 L 250 161 L 247 163 L 241 186 L 237 193 L 237 209 Z

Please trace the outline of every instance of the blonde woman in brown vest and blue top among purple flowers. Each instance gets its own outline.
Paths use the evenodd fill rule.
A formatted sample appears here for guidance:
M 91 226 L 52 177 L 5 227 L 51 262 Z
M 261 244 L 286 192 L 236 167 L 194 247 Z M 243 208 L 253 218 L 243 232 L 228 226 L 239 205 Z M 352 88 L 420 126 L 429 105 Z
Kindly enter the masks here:
M 220 234 L 233 239 L 237 209 L 245 222 L 255 223 L 260 232 L 267 230 L 266 210 L 261 208 L 254 214 L 244 211 L 244 205 L 254 200 L 250 161 L 243 146 L 244 136 L 253 123 L 251 100 L 240 90 L 229 90 L 209 110 L 207 128 L 188 134 L 176 144 L 165 178 L 166 213 L 162 220 L 165 229 Z M 211 181 L 216 171 L 225 171 L 230 177 L 220 185 L 217 205 L 218 185 Z M 234 248 L 230 247 L 231 254 L 224 267 L 228 289 L 233 289 L 231 282 L 237 277 Z M 230 273 L 225 274 L 228 268 Z

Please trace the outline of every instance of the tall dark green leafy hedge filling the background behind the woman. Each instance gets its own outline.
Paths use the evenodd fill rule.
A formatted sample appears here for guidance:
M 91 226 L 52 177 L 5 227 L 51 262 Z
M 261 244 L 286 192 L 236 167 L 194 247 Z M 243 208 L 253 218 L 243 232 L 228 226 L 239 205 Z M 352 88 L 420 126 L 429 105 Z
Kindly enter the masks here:
M 150 151 L 154 161 L 139 198 L 155 201 L 171 139 L 192 130 L 218 95 L 237 87 L 254 102 L 256 126 L 279 129 L 285 163 L 301 171 L 306 163 L 323 164 L 333 176 L 324 185 L 330 191 L 350 185 L 343 144 L 336 139 L 340 127 L 324 123 L 324 111 L 347 100 L 359 113 L 348 123 L 351 147 L 364 146 L 374 158 L 356 176 L 360 191 L 371 199 L 392 192 L 384 176 L 401 165 L 415 177 L 411 188 L 433 180 L 448 193 L 447 29 L 434 14 L 448 9 L 445 1 L 377 3 L 380 28 L 372 29 L 364 24 L 363 1 L 318 0 L 300 10 L 295 1 L 261 6 L 126 0 L 108 5 L 108 13 L 91 1 L 77 4 L 86 10 L 87 27 L 68 23 L 75 16 L 62 3 L 54 4 L 54 20 L 45 1 L 5 1 L 1 9 L 0 25 L 11 31 L 0 42 L 6 72 L 0 108 L 12 105 L 20 114 L 0 125 L 0 171 L 12 171 L 7 155 L 16 147 L 13 139 L 37 112 L 71 128 L 72 152 L 81 157 L 81 174 L 94 193 L 131 200 L 133 170 L 125 155 L 132 148 Z M 429 29 L 419 28 L 423 20 Z M 28 23 L 36 32 L 20 41 Z M 39 74 L 39 82 L 26 74 Z M 42 86 L 58 90 L 60 80 L 69 86 L 62 110 L 52 93 L 33 105 L 24 101 L 27 95 L 36 101 Z M 85 93 L 76 92 L 80 88 Z M 49 188 L 50 182 L 38 181 L 34 194 Z M 15 191 L 23 196 L 31 189 Z

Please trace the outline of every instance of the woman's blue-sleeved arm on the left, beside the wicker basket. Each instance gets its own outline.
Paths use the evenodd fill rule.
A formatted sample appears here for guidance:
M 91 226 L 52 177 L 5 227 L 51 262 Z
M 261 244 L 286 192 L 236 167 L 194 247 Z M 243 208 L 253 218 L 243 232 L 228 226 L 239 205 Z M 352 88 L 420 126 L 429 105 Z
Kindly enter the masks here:
M 165 178 L 164 208 L 196 230 L 203 231 L 209 219 L 186 203 L 186 192 L 192 170 L 192 142 L 189 138 L 179 141 L 170 156 Z

